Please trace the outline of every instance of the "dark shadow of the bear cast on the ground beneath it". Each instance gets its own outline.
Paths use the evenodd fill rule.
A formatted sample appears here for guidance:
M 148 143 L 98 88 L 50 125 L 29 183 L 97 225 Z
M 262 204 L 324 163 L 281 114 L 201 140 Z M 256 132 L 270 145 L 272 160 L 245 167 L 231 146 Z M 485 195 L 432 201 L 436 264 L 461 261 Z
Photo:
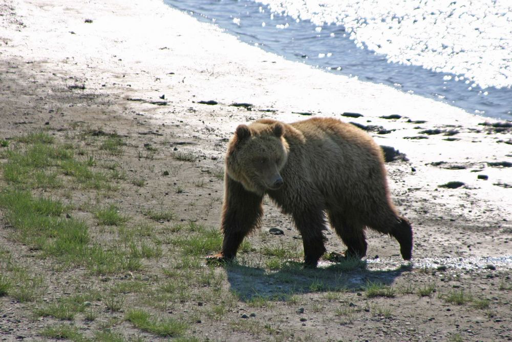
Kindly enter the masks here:
M 372 283 L 390 286 L 396 277 L 411 270 L 407 265 L 393 270 L 368 270 L 364 261 L 355 269 L 348 270 L 343 264 L 317 269 L 304 269 L 302 265 L 287 261 L 279 270 L 269 272 L 234 263 L 225 265 L 225 270 L 231 292 L 246 302 L 258 299 L 282 301 L 294 294 L 305 293 L 357 292 Z

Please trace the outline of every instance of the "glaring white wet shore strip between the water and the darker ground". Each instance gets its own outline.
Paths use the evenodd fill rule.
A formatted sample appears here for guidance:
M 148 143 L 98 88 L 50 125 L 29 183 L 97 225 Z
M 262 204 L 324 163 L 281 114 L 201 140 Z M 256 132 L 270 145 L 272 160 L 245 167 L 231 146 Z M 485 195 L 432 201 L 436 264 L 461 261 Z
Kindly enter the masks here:
M 155 124 L 172 125 L 185 119 L 196 135 L 205 139 L 204 148 L 219 158 L 222 149 L 208 148 L 214 143 L 212 138 L 229 137 L 241 122 L 264 116 L 291 122 L 307 117 L 296 113 L 311 113 L 390 131 L 370 134 L 380 145 L 406 153 L 416 169 L 415 177 L 404 175 L 406 183 L 414 185 L 421 178 L 417 185 L 429 184 L 435 190 L 438 184 L 459 180 L 477 197 L 497 203 L 506 203 L 509 197 L 509 189 L 492 184 L 510 182 L 506 177 L 510 169 L 488 164 L 512 157 L 510 129 L 485 134 L 492 130 L 481 124 L 497 123 L 495 119 L 286 61 L 156 0 L 130 5 L 113 0 L 79 7 L 65 0 L 54 6 L 38 4 L 18 3 L 18 16 L 25 27 L 14 25 L 6 32 L 3 39 L 8 44 L 1 55 L 4 63 L 12 60 L 16 64 L 17 59 L 32 66 L 28 73 L 37 68 L 39 73 L 53 73 L 53 77 L 36 82 L 67 75 L 67 87 L 112 96 L 118 112 L 140 110 Z M 133 25 L 136 21 L 139 24 Z M 165 106 L 151 104 L 158 103 L 162 95 Z M 209 100 L 218 105 L 198 104 Z M 249 103 L 252 111 L 232 107 L 233 103 Z M 187 115 L 190 108 L 200 115 Z M 344 112 L 364 116 L 343 117 Z M 380 117 L 393 114 L 401 118 Z M 414 124 L 418 120 L 425 123 Z M 208 127 L 205 130 L 203 126 Z M 418 134 L 435 133 L 436 129 L 441 133 Z M 454 141 L 443 140 L 446 138 Z M 482 182 L 469 170 L 446 171 L 441 162 L 481 169 L 489 178 Z M 511 214 L 510 207 L 503 210 Z

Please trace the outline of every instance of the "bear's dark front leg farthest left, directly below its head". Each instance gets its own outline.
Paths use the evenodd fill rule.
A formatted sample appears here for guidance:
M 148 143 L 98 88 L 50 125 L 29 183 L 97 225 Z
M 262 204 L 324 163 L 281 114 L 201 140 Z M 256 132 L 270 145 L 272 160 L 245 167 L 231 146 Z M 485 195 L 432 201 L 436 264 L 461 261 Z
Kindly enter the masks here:
M 233 259 L 244 237 L 261 224 L 263 196 L 245 188 L 225 175 L 224 205 L 221 229 L 224 234 L 222 252 L 224 260 Z

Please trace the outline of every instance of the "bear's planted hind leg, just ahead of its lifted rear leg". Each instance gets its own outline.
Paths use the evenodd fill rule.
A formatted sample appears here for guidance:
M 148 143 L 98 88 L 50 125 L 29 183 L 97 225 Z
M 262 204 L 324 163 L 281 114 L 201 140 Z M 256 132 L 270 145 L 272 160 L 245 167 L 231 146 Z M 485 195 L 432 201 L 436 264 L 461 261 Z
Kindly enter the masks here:
M 368 248 L 364 226 L 349 222 L 343 217 L 342 213 L 329 211 L 329 219 L 336 234 L 342 238 L 343 243 L 347 246 L 345 256 L 359 259 L 364 257 Z

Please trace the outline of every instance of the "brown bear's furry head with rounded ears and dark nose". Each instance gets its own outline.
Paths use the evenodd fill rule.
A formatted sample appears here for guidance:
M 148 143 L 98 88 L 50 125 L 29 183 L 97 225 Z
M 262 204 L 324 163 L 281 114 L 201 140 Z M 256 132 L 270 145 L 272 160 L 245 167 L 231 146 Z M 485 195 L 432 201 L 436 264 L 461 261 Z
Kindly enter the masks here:
M 226 173 L 247 191 L 260 195 L 283 186 L 280 171 L 288 158 L 288 144 L 279 122 L 240 125 L 229 141 Z

